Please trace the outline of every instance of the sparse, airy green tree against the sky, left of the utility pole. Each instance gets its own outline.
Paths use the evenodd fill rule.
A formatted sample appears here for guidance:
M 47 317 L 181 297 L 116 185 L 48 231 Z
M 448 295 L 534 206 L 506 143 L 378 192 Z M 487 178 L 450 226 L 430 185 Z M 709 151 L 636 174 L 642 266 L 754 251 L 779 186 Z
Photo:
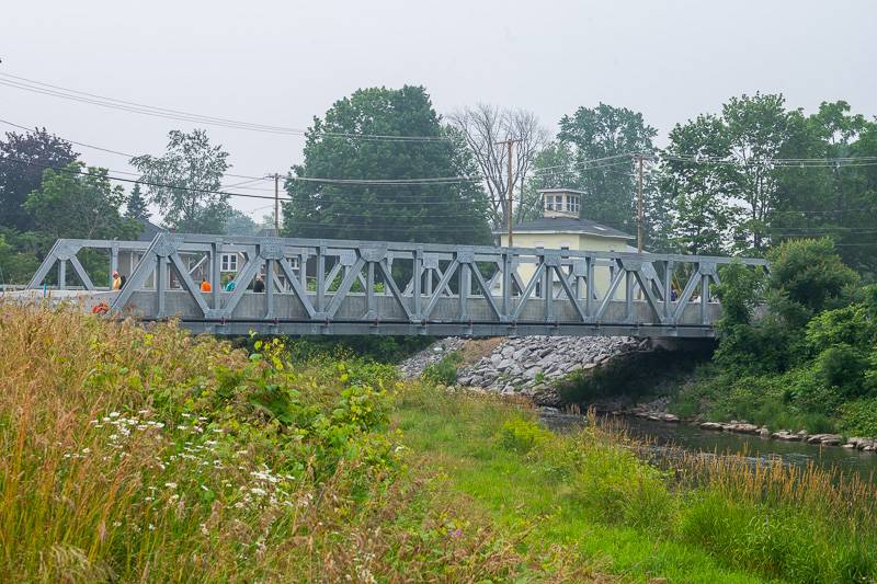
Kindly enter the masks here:
M 168 151 L 161 157 L 144 154 L 130 164 L 140 172 L 150 203 L 158 205 L 164 225 L 176 231 L 221 233 L 231 206 L 220 194 L 223 175 L 229 169 L 228 152 L 212 146 L 207 133 L 171 130 Z

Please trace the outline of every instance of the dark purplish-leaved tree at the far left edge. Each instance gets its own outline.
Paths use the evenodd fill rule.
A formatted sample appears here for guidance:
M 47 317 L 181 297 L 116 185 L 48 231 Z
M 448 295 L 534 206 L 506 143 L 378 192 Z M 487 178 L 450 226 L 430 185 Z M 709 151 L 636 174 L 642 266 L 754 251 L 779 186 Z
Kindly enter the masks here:
M 7 133 L 0 140 L 0 227 L 33 229 L 33 215 L 23 207 L 27 195 L 39 187 L 43 171 L 64 168 L 78 156 L 70 142 L 45 128 Z

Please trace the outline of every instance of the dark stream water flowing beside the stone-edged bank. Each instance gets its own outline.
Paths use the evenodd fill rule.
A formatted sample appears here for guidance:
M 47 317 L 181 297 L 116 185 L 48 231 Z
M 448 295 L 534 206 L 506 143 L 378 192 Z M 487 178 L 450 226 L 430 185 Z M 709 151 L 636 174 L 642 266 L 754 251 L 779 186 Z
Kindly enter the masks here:
M 540 411 L 539 419 L 548 428 L 563 433 L 572 432 L 584 424 L 583 415 Z M 701 430 L 691 424 L 668 424 L 639 417 L 613 419 L 627 428 L 634 437 L 652 445 L 656 454 L 669 453 L 671 447 L 690 453 L 730 454 L 743 453 L 756 460 L 779 457 L 790 465 L 806 466 L 809 462 L 825 470 L 838 469 L 844 474 L 857 473 L 863 479 L 877 482 L 877 453 L 850 450 L 839 446 L 819 446 L 804 442 L 784 442 L 762 438 L 751 434 Z

